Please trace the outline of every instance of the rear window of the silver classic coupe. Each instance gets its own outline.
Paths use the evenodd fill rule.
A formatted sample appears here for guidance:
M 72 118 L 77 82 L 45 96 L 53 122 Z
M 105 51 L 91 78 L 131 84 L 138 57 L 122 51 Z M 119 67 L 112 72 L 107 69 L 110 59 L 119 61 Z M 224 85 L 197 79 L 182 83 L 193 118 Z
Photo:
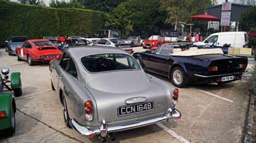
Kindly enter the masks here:
M 82 65 L 90 73 L 115 70 L 138 70 L 140 65 L 127 54 L 96 54 L 81 58 Z

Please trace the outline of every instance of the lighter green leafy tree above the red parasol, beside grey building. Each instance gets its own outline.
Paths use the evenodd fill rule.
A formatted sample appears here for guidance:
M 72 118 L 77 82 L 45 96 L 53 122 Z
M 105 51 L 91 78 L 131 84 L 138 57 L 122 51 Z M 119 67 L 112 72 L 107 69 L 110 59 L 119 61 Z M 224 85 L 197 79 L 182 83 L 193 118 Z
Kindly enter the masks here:
M 197 14 L 198 9 L 206 9 L 207 7 L 217 3 L 211 0 L 160 0 L 161 9 L 168 12 L 168 18 L 165 23 L 173 23 L 176 26 L 178 23 L 187 22 L 190 15 Z

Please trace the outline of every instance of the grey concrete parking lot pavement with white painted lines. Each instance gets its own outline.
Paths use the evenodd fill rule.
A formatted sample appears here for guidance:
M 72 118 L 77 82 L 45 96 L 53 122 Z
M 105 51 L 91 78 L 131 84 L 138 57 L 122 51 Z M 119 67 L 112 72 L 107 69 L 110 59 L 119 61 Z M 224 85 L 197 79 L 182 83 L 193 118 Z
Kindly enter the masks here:
M 134 47 L 134 51 L 143 51 Z M 100 142 L 66 128 L 62 107 L 51 91 L 49 64 L 29 66 L 28 62 L 8 56 L 0 49 L 0 68 L 22 75 L 23 95 L 16 97 L 16 133 L 0 142 Z M 151 73 L 150 73 L 151 74 Z M 158 75 L 164 81 L 170 80 Z M 172 84 L 172 83 L 170 83 Z M 180 89 L 180 120 L 161 122 L 116 133 L 116 141 L 107 142 L 242 142 L 249 105 L 249 82 L 235 81 L 224 85 L 190 85 Z

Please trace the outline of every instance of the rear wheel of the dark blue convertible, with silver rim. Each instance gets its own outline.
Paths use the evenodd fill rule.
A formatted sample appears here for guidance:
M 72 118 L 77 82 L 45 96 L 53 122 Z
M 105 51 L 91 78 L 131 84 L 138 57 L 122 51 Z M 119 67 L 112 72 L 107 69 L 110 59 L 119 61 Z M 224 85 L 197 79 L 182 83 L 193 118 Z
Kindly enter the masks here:
M 172 69 L 171 79 L 174 86 L 180 88 L 186 87 L 186 77 L 184 71 L 179 66 L 176 66 L 174 69 Z

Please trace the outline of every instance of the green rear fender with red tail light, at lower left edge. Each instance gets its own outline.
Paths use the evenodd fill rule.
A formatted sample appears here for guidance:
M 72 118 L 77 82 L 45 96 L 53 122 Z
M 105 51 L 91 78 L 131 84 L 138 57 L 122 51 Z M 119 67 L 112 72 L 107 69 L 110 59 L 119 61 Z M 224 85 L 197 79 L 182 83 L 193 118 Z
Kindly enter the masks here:
M 14 113 L 15 113 L 16 102 L 14 99 L 14 95 L 12 95 L 11 93 L 0 94 L 0 111 L 5 111 L 5 117 L 0 118 L 0 130 L 7 129 L 7 132 L 9 132 L 10 130 L 15 131 L 15 127 L 14 129 L 11 129 L 11 126 L 13 125 L 12 122 L 15 122 L 15 121 L 11 121 L 12 108 L 14 108 Z

